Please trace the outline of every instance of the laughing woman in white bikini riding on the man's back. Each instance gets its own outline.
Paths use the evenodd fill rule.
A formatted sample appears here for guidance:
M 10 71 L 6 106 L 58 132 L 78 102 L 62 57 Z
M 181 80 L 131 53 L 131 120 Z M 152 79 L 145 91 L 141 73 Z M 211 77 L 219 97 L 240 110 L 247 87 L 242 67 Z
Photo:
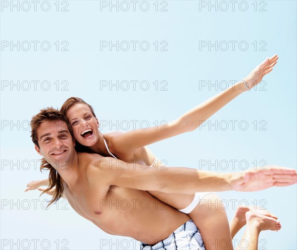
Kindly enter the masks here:
M 185 113 L 180 118 L 168 123 L 165 127 L 150 127 L 148 130 L 134 130 L 125 133 L 114 131 L 105 133 L 99 131 L 99 121 L 96 118 L 93 108 L 80 98 L 69 98 L 61 107 L 69 120 L 74 137 L 76 139 L 76 149 L 78 151 L 91 151 L 102 156 L 111 156 L 127 162 L 137 162 L 142 165 L 161 167 L 161 162 L 146 147 L 148 144 L 163 140 L 180 133 L 195 130 L 201 123 L 224 107 L 227 103 L 239 94 L 251 89 L 262 80 L 262 77 L 269 73 L 278 60 L 277 55 L 255 67 L 245 80 L 236 83 L 226 91 L 210 98 L 201 105 Z M 137 139 L 136 139 L 137 138 Z M 42 185 L 48 185 L 49 180 L 30 183 L 29 188 L 35 189 Z M 40 188 L 39 188 L 40 189 Z M 41 190 L 41 189 L 40 189 Z M 196 223 L 204 240 L 207 250 L 213 249 L 233 249 L 231 239 L 235 234 L 247 224 L 244 235 L 252 246 L 256 249 L 258 235 L 261 230 L 279 230 L 280 224 L 276 217 L 267 211 L 255 211 L 252 208 L 238 208 L 229 228 L 229 223 L 225 209 L 221 206 L 208 209 L 207 205 L 197 206 L 199 200 L 203 198 L 212 204 L 219 198 L 214 193 L 188 194 L 168 194 L 158 191 L 149 191 L 150 194 L 164 201 L 165 203 L 189 214 Z M 189 205 L 190 204 L 190 205 Z M 204 203 L 205 204 L 205 203 Z M 185 208 L 186 207 L 186 208 Z M 210 206 L 212 208 L 213 206 Z M 214 222 L 216 226 L 214 227 Z M 217 230 L 217 228 L 221 230 Z M 228 243 L 221 246 L 222 241 Z M 214 244 L 215 243 L 215 244 Z

